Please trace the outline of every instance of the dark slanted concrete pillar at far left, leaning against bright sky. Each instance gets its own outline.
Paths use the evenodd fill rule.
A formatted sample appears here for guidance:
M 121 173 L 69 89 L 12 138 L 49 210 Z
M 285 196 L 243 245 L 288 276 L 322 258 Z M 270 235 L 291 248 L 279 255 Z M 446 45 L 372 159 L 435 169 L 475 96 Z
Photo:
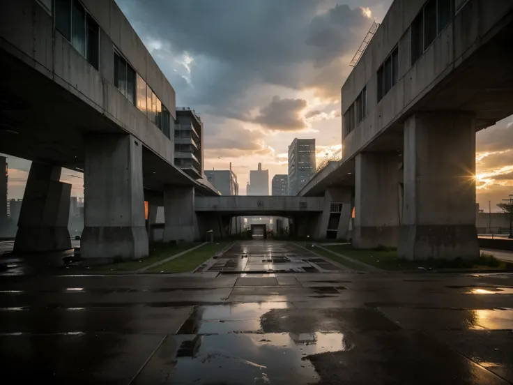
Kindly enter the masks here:
M 71 185 L 59 181 L 61 167 L 33 162 L 26 181 L 14 252 L 71 248 L 68 220 Z

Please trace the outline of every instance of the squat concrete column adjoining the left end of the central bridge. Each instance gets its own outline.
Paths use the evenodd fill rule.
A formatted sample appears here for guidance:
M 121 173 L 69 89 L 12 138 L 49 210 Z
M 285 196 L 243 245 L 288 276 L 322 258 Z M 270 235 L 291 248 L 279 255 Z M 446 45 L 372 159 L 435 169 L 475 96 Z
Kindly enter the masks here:
M 171 187 L 164 191 L 164 218 L 164 242 L 192 242 L 198 238 L 194 187 Z

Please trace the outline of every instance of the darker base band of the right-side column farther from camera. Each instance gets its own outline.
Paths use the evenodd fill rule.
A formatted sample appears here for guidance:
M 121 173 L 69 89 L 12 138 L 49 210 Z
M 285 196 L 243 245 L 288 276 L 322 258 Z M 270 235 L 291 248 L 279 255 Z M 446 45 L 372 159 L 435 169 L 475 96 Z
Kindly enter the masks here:
M 353 229 L 353 248 L 372 249 L 379 246 L 396 248 L 399 241 L 399 227 L 396 226 L 369 226 L 355 227 Z

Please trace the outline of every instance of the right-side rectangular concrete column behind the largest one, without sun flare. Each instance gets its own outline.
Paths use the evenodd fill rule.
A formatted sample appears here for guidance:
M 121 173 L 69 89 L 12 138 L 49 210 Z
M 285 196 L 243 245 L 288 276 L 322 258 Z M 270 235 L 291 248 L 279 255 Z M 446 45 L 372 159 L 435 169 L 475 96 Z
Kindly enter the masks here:
M 396 247 L 399 240 L 397 197 L 399 156 L 396 151 L 356 156 L 355 248 Z

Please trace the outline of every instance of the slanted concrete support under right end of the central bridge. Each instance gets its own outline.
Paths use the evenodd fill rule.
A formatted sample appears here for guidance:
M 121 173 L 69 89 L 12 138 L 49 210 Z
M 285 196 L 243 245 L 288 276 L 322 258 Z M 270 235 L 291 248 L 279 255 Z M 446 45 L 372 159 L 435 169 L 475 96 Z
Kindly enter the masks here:
M 342 212 L 337 226 L 337 239 L 345 238 L 349 227 L 349 218 L 351 218 L 351 188 L 328 188 L 324 193 L 324 206 L 321 220 L 319 222 L 317 239 L 326 239 L 328 225 L 331 216 L 331 204 L 342 203 Z

